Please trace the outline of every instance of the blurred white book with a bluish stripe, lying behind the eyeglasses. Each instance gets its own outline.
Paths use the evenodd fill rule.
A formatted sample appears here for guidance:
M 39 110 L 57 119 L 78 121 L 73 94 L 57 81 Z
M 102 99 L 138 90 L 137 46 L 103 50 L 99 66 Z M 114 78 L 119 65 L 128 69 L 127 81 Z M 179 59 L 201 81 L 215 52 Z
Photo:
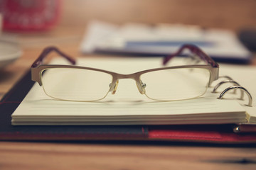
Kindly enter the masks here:
M 230 30 L 181 24 L 116 26 L 94 21 L 88 25 L 80 50 L 86 54 L 156 57 L 170 55 L 183 44 L 197 45 L 216 62 L 248 63 L 252 59 L 252 53 Z

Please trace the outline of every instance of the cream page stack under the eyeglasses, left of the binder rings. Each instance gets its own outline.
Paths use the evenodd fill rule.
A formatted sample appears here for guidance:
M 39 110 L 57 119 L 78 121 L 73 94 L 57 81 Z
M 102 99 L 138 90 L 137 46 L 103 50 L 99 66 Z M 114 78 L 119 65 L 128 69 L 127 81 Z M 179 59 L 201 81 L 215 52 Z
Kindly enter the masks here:
M 62 63 L 55 60 L 53 63 Z M 178 64 L 182 61 L 173 61 Z M 161 65 L 160 59 L 80 59 L 79 65 L 97 67 L 112 72 L 129 74 Z M 132 66 L 132 67 L 131 67 Z M 185 107 L 186 106 L 186 107 Z M 58 101 L 46 96 L 41 86 L 35 84 L 13 113 L 14 122 L 129 122 L 176 120 L 199 122 L 225 120 L 245 122 L 245 110 L 233 100 L 220 101 L 210 89 L 203 98 L 186 101 L 152 101 L 139 94 L 135 81 L 119 81 L 117 93 L 108 94 L 102 101 Z M 227 120 L 228 119 L 228 120 Z M 136 124 L 136 123 L 134 123 Z

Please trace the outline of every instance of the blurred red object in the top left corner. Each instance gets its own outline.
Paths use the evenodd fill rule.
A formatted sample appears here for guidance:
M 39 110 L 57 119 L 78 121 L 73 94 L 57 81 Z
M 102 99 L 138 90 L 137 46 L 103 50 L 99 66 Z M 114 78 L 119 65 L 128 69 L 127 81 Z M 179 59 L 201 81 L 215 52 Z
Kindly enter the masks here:
M 0 0 L 4 30 L 48 30 L 60 18 L 60 0 Z

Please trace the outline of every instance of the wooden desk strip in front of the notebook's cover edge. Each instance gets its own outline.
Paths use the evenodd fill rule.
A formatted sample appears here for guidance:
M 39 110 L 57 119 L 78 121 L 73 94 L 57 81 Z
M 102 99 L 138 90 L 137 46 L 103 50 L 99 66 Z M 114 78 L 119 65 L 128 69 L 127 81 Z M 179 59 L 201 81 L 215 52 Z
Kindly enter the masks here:
M 255 169 L 255 148 L 0 142 L 6 169 Z

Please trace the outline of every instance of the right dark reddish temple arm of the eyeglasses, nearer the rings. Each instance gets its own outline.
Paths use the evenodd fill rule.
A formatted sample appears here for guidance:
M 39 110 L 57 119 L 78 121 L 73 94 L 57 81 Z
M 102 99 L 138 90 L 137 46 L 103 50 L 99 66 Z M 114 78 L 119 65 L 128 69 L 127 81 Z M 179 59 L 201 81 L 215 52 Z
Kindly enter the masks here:
M 201 58 L 201 60 L 205 61 L 206 63 L 210 64 L 212 67 L 218 67 L 218 64 L 214 62 L 212 58 L 210 58 L 208 55 L 206 55 L 205 52 L 203 52 L 199 47 L 196 45 L 183 45 L 177 52 L 174 54 L 168 55 L 164 57 L 163 64 L 167 64 L 169 60 L 171 60 L 173 57 L 176 57 L 177 55 L 181 55 L 183 50 L 188 49 L 195 55 L 198 55 L 198 57 Z

